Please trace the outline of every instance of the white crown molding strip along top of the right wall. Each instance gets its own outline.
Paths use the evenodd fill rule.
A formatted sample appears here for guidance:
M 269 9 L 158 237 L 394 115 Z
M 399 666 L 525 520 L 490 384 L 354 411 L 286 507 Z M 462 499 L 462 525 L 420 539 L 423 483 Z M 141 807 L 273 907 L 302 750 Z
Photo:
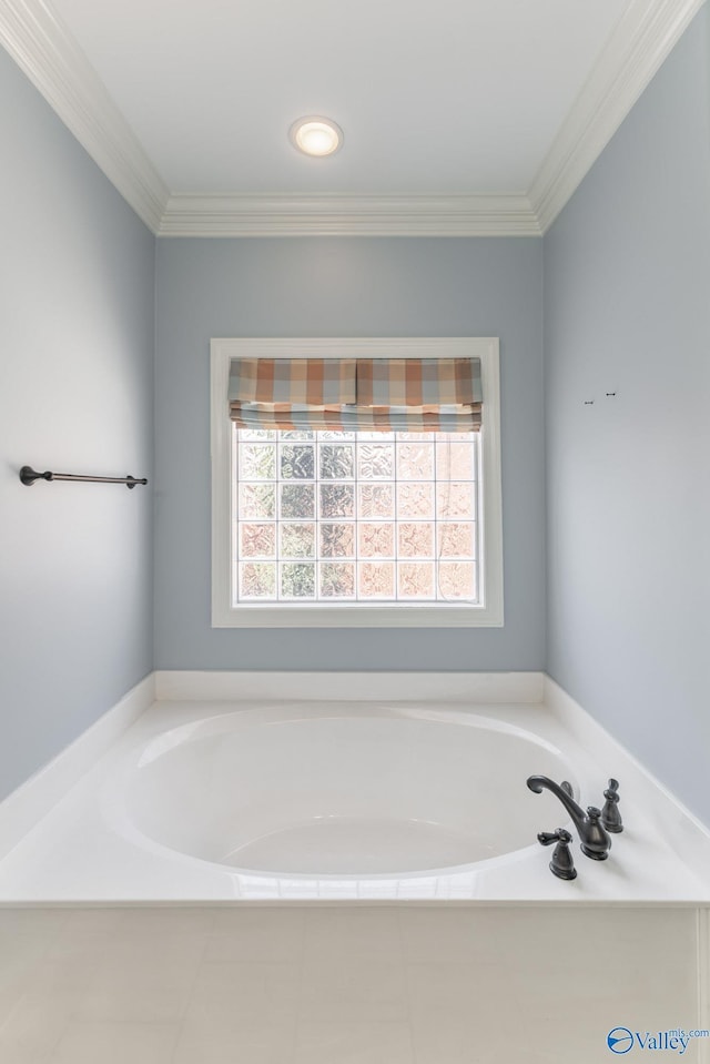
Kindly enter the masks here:
M 706 0 L 631 0 L 568 112 L 529 199 L 547 232 Z

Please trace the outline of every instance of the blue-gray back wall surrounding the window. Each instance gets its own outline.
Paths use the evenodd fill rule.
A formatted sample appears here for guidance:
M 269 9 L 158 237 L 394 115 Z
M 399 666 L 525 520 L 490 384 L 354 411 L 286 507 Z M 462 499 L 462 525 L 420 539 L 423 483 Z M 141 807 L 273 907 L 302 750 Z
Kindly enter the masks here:
M 539 240 L 163 240 L 158 249 L 159 669 L 541 669 Z M 211 629 L 212 336 L 500 336 L 503 629 Z

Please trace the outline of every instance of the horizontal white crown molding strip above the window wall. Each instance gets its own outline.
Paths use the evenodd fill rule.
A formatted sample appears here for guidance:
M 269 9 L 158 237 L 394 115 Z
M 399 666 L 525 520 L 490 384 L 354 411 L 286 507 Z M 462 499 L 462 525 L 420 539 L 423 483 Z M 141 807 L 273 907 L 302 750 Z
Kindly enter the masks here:
M 172 195 L 159 236 L 539 236 L 525 195 Z

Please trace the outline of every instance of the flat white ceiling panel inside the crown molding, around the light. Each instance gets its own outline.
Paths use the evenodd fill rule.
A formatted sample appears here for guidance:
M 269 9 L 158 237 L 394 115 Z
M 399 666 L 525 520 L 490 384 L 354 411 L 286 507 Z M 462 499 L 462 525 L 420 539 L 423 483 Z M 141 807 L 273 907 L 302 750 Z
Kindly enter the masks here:
M 524 192 L 627 0 L 54 0 L 174 192 Z M 287 140 L 343 128 L 329 159 Z

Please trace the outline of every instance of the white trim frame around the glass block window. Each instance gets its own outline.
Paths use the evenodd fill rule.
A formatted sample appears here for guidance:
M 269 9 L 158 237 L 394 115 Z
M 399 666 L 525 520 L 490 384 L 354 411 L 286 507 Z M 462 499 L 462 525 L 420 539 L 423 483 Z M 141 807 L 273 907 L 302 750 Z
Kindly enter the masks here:
M 500 369 L 496 337 L 225 338 L 211 342 L 212 627 L 213 628 L 500 628 L 503 500 Z M 478 606 L 232 606 L 232 424 L 230 364 L 235 358 L 480 358 L 484 393 L 484 566 Z

